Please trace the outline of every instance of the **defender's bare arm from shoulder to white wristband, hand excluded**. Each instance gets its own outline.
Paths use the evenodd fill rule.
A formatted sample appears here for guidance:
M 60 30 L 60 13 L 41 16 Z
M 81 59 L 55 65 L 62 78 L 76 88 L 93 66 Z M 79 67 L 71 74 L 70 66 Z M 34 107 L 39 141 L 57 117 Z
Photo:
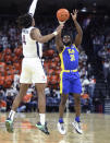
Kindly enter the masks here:
M 40 31 L 38 28 L 33 28 L 30 32 L 30 37 L 32 39 L 38 41 L 38 43 L 47 43 L 48 40 L 52 39 L 56 35 L 52 34 L 48 34 L 46 36 L 42 36 L 40 34 Z

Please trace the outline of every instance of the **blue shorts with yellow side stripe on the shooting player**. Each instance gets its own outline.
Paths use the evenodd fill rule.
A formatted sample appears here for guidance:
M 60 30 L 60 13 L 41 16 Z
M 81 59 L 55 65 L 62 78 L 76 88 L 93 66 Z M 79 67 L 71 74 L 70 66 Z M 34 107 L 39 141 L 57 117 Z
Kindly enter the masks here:
M 81 94 L 82 85 L 78 72 L 61 72 L 60 94 Z

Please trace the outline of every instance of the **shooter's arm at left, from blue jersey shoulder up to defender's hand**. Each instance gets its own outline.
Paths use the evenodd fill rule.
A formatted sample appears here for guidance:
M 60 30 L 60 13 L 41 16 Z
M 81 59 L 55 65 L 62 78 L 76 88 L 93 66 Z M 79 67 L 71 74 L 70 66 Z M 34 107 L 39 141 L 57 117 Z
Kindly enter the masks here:
M 61 33 L 59 33 L 57 36 L 56 36 L 56 45 L 57 45 L 57 49 L 59 52 L 62 51 L 63 49 L 63 43 L 62 43 L 62 38 L 61 38 Z

